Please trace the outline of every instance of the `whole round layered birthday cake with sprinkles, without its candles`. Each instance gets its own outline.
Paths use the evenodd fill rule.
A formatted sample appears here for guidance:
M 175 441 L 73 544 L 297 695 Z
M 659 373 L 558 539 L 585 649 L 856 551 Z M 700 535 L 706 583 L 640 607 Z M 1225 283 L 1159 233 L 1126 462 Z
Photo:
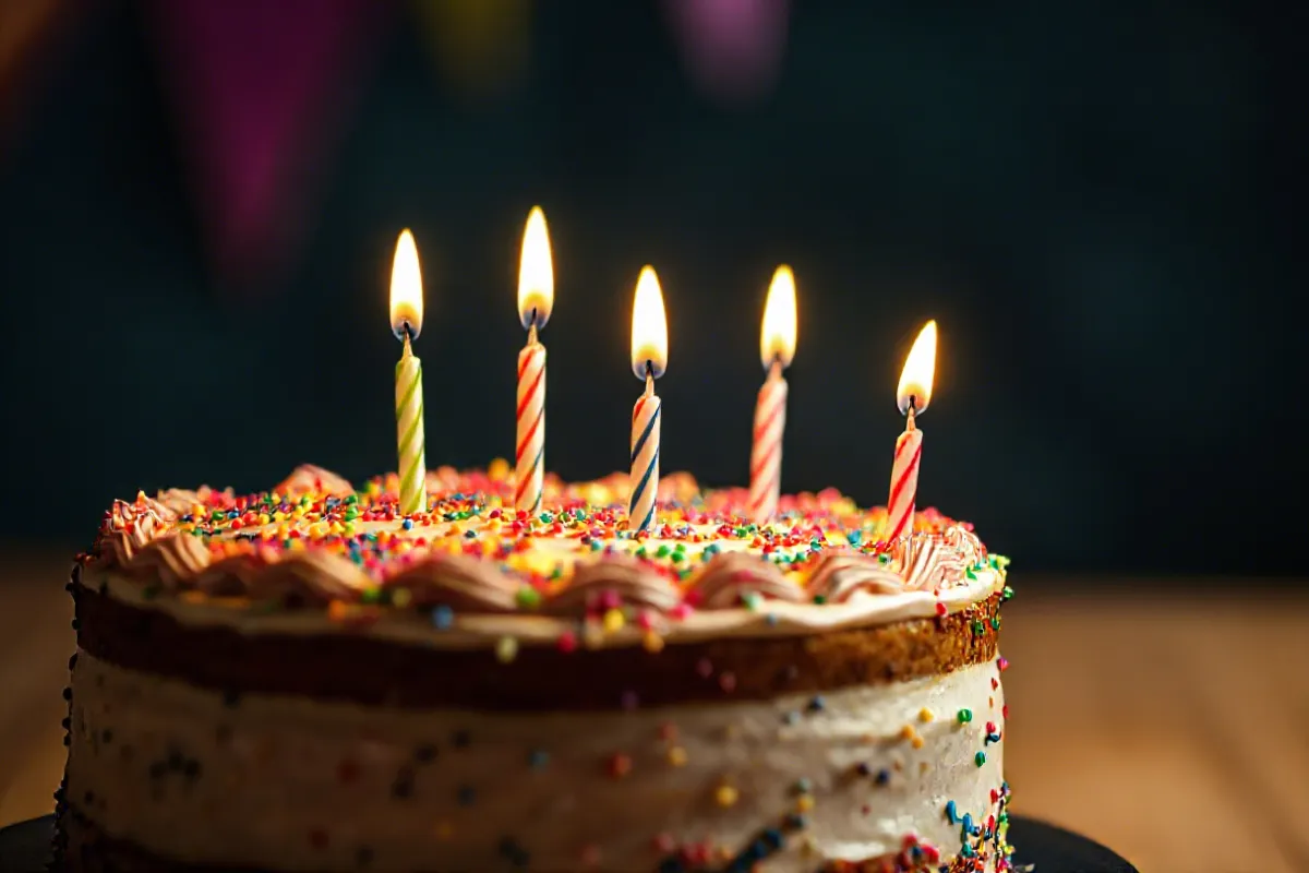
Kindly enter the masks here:
M 935 510 L 301 467 L 73 568 L 69 870 L 1007 870 L 1005 560 Z

